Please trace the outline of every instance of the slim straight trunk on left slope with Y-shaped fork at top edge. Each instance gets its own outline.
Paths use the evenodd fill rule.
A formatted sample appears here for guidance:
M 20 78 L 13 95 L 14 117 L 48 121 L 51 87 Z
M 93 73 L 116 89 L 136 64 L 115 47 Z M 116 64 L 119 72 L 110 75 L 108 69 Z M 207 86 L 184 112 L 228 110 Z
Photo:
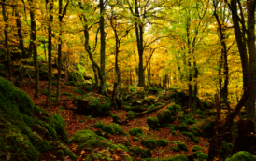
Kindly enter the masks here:
M 59 43 L 58 43 L 58 75 L 57 75 L 57 95 L 56 95 L 56 104 L 59 103 L 60 97 L 61 97 L 61 75 L 62 75 L 62 67 L 63 67 L 63 61 L 62 61 L 62 25 L 63 25 L 63 18 L 66 14 L 66 8 L 68 7 L 69 1 L 66 2 L 66 5 L 64 7 L 63 11 L 63 0 L 59 0 L 59 22 L 60 22 L 60 33 L 59 33 Z

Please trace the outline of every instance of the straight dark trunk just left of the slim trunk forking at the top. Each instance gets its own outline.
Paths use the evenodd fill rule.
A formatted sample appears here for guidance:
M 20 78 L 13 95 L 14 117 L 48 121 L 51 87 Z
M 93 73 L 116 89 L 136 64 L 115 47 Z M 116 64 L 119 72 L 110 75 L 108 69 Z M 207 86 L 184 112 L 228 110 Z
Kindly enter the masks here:
M 46 106 L 50 106 L 50 94 L 51 94 L 51 85 L 52 85 L 52 65 L 51 65 L 51 50 L 52 50 L 52 42 L 51 42 L 51 23 L 53 20 L 53 15 L 51 13 L 53 9 L 53 1 L 50 0 L 50 20 L 48 25 L 48 95 L 46 100 Z

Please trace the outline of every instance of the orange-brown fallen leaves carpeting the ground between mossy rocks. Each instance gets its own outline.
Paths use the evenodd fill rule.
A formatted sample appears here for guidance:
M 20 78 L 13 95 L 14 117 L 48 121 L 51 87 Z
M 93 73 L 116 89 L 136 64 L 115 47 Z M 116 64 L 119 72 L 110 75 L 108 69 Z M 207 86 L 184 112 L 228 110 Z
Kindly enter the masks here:
M 28 80 L 26 80 L 28 81 Z M 25 82 L 26 82 L 25 81 Z M 32 98 L 33 102 L 38 105 L 39 107 L 43 108 L 44 110 L 46 110 L 47 112 L 49 112 L 50 114 L 60 114 L 64 117 L 64 123 L 66 124 L 66 132 L 68 137 L 70 138 L 74 133 L 78 132 L 79 130 L 84 130 L 85 127 L 90 127 L 91 130 L 96 131 L 97 128 L 93 127 L 93 125 L 97 122 L 97 121 L 102 121 L 104 122 L 106 125 L 111 124 L 112 121 L 112 117 L 108 116 L 108 117 L 95 117 L 92 118 L 90 116 L 83 116 L 83 115 L 78 115 L 78 114 L 74 114 L 71 110 L 69 110 L 69 108 L 76 108 L 76 106 L 74 104 L 72 104 L 72 100 L 71 99 L 67 99 L 68 96 L 61 96 L 61 102 L 59 103 L 59 105 L 54 105 L 53 101 L 50 101 L 50 107 L 46 108 L 45 107 L 45 102 L 47 99 L 46 95 L 42 95 L 42 89 L 47 88 L 48 87 L 48 81 L 40 81 L 40 92 L 39 92 L 39 98 L 35 99 L 34 98 L 34 94 L 35 94 L 35 86 L 34 84 L 28 84 L 28 83 L 24 83 L 23 86 L 21 87 L 22 90 L 24 90 L 25 92 L 28 93 L 28 95 Z M 67 86 L 64 85 L 63 88 L 61 88 L 61 92 L 68 92 L 68 93 L 72 93 L 76 96 L 80 96 L 78 93 L 74 93 L 73 90 L 76 87 L 72 87 L 72 86 Z M 54 92 L 56 92 L 56 87 L 52 86 L 52 91 L 53 94 Z M 92 89 L 92 92 L 96 92 Z M 109 93 L 111 94 L 111 93 Z M 171 105 L 172 102 L 170 104 L 167 105 Z M 164 111 L 166 109 L 166 106 L 161 109 L 160 111 Z M 125 111 L 122 110 L 114 110 L 112 109 L 111 112 L 113 114 L 118 114 L 119 117 L 121 119 L 126 118 L 126 113 Z M 166 158 L 166 157 L 171 157 L 174 155 L 178 155 L 178 154 L 186 154 L 186 155 L 190 155 L 192 154 L 192 146 L 194 145 L 199 145 L 201 146 L 204 150 L 204 153 L 208 153 L 208 148 L 209 148 L 209 143 L 208 143 L 208 139 L 204 138 L 204 137 L 196 137 L 200 142 L 199 143 L 194 143 L 191 140 L 188 140 L 186 136 L 183 136 L 181 134 L 181 132 L 179 132 L 177 130 L 177 136 L 172 135 L 172 133 L 170 132 L 170 130 L 167 127 L 161 128 L 161 130 L 152 130 L 149 129 L 148 127 L 145 127 L 145 125 L 147 124 L 147 117 L 149 116 L 156 116 L 158 112 L 154 112 L 151 114 L 147 114 L 144 115 L 142 117 L 139 118 L 135 118 L 134 120 L 128 120 L 128 125 L 126 126 L 121 126 L 121 128 L 124 130 L 124 132 L 129 132 L 129 129 L 134 128 L 134 127 L 141 127 L 143 129 L 144 134 L 149 135 L 149 137 L 154 138 L 154 139 L 166 139 L 169 144 L 166 147 L 157 147 L 156 150 L 152 151 L 152 158 Z M 197 118 L 198 123 L 200 123 L 200 118 Z M 201 121 L 202 122 L 202 121 Z M 175 121 L 172 124 L 176 124 L 179 125 L 177 121 Z M 130 137 L 130 138 L 129 138 Z M 123 135 L 110 135 L 109 138 L 110 141 L 113 141 L 114 143 L 119 143 L 121 140 L 122 141 L 130 141 L 131 146 L 138 146 L 138 147 L 142 147 L 143 145 L 139 142 L 139 141 L 134 141 L 133 140 L 133 136 L 123 136 Z M 172 150 L 172 146 L 174 146 L 172 144 L 172 141 L 181 141 L 184 142 L 187 147 L 188 147 L 188 151 L 180 151 L 180 152 L 174 152 Z M 72 147 L 74 147 L 75 145 L 71 145 Z M 77 152 L 76 148 L 70 148 L 73 151 Z M 216 159 L 218 160 L 218 159 Z

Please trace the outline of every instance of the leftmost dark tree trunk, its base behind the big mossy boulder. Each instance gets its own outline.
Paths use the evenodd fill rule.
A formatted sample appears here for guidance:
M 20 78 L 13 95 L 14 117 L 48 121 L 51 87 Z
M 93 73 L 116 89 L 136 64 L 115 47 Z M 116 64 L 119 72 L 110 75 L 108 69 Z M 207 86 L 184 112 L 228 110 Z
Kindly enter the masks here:
M 4 0 L 5 2 L 5 0 Z M 2 5 L 2 14 L 3 18 L 5 21 L 5 29 L 4 29 L 4 34 L 5 34 L 5 44 L 7 47 L 7 60 L 8 60 L 8 73 L 9 73 L 9 80 L 13 81 L 13 73 L 12 73 L 12 65 L 11 65 L 11 58 L 10 58 L 10 51 L 9 51 L 9 44 L 8 44 L 8 15 L 6 13 L 6 7 Z

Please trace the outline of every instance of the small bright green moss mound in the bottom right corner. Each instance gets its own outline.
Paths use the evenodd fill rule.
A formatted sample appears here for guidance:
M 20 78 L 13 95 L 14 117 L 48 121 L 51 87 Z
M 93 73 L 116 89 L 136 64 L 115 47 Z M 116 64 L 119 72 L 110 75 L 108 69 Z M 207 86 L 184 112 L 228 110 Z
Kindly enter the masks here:
M 256 161 L 256 157 L 246 151 L 240 151 L 233 154 L 231 158 L 227 158 L 225 161 Z

